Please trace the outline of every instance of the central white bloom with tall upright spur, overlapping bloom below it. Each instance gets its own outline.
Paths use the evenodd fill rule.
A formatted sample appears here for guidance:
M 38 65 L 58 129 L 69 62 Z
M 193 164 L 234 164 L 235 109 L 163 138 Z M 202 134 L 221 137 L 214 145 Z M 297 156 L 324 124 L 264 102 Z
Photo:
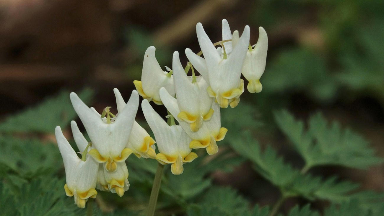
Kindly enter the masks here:
M 213 98 L 207 93 L 208 83 L 202 76 L 187 76 L 180 63 L 179 53 L 173 53 L 173 75 L 177 104 L 180 113 L 177 117 L 190 124 L 191 131 L 198 131 L 203 121 L 211 119 L 214 110 L 211 108 Z

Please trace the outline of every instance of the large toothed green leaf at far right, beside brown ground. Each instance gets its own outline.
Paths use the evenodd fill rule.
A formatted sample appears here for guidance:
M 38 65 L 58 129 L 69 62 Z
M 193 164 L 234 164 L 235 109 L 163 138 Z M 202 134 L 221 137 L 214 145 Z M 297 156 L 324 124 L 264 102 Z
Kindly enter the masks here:
M 321 113 L 311 116 L 308 130 L 303 121 L 295 120 L 288 111 L 276 112 L 275 119 L 304 158 L 306 169 L 324 164 L 366 169 L 382 162 L 361 135 L 342 129 L 338 122 L 328 125 Z

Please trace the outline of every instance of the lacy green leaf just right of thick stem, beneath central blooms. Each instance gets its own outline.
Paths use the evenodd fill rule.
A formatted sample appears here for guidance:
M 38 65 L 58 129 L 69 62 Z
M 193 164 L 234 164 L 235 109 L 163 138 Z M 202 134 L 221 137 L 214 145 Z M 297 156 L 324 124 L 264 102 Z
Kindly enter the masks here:
M 202 151 L 202 154 L 199 154 L 193 163 L 184 164 L 183 174 L 173 175 L 168 169 L 161 187 L 162 191 L 179 203 L 200 199 L 198 195 L 212 185 L 211 179 L 206 177 L 208 174 L 217 170 L 232 171 L 234 166 L 243 162 L 242 158 L 234 156 L 230 151 L 223 151 L 215 157 L 210 157 L 209 162 L 206 161 L 206 155 Z

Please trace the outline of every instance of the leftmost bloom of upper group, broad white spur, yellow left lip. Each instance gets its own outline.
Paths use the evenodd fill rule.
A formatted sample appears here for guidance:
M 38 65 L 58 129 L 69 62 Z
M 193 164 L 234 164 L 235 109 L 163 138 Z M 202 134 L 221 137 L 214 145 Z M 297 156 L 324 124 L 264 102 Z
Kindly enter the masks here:
M 141 73 L 141 81 L 133 81 L 140 96 L 148 101 L 153 101 L 157 105 L 163 105 L 159 96 L 159 89 L 164 87 L 175 96 L 173 86 L 173 77 L 171 73 L 163 71 L 156 60 L 155 47 L 148 47 L 143 62 L 143 70 Z

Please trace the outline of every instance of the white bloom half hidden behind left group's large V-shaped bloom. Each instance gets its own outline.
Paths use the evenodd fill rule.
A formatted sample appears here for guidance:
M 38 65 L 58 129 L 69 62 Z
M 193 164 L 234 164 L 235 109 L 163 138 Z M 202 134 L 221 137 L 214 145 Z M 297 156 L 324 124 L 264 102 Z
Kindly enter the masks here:
M 117 88 L 113 91 L 116 97 L 118 112 L 120 113 L 124 109 L 126 103 Z M 156 157 L 155 143 L 156 142 L 151 138 L 151 136 L 149 136 L 147 131 L 142 128 L 139 123 L 134 121 L 131 134 L 129 135 L 127 148 L 130 148 L 138 158 L 143 157 L 154 159 Z

